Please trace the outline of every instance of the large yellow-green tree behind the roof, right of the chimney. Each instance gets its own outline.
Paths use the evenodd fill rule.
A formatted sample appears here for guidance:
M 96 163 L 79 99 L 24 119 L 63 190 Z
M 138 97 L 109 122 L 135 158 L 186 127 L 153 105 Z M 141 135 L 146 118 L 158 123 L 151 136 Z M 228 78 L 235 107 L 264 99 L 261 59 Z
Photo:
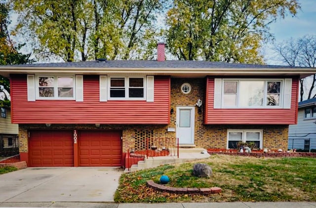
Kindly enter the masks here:
M 297 0 L 173 0 L 167 46 L 179 60 L 262 64 L 269 24 L 298 8 Z

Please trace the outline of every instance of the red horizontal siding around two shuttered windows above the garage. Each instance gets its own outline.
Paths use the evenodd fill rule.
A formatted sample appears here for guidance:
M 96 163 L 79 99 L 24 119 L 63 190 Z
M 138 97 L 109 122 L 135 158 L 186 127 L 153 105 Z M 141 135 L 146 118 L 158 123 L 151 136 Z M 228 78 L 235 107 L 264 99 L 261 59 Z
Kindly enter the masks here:
M 27 101 L 26 75 L 11 76 L 15 124 L 168 124 L 170 78 L 155 76 L 155 102 L 99 102 L 99 76 L 83 77 L 83 101 Z

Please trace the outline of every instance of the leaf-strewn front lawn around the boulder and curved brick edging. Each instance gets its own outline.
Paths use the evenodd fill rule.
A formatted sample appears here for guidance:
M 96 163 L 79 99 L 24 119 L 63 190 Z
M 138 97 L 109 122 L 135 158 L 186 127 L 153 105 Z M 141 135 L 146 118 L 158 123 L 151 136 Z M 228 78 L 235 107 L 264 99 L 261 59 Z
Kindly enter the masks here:
M 195 163 L 206 163 L 213 177 L 192 175 Z M 209 159 L 180 165 L 165 165 L 122 174 L 115 202 L 236 202 L 316 201 L 315 158 L 254 158 L 212 155 Z M 147 180 L 159 183 L 168 175 L 168 186 L 220 187 L 221 194 L 178 195 L 146 187 Z

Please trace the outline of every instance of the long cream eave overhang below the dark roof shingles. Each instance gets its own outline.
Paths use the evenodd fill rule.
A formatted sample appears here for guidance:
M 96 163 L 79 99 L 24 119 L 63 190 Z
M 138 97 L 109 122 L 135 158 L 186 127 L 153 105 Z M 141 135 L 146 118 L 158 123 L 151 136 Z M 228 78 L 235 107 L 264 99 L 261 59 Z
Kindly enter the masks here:
M 179 78 L 205 76 L 300 76 L 316 74 L 316 68 L 86 68 L 0 66 L 0 75 L 10 74 L 80 74 L 80 75 L 168 75 Z

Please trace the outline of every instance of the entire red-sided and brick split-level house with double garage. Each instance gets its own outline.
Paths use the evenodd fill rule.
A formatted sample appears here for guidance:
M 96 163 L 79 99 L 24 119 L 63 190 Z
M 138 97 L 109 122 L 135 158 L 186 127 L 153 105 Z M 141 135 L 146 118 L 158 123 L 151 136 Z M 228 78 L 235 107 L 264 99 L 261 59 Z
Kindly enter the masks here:
M 0 66 L 28 166 L 122 166 L 146 138 L 181 147 L 286 149 L 299 79 L 315 68 L 207 61 Z M 202 105 L 197 107 L 198 100 Z

